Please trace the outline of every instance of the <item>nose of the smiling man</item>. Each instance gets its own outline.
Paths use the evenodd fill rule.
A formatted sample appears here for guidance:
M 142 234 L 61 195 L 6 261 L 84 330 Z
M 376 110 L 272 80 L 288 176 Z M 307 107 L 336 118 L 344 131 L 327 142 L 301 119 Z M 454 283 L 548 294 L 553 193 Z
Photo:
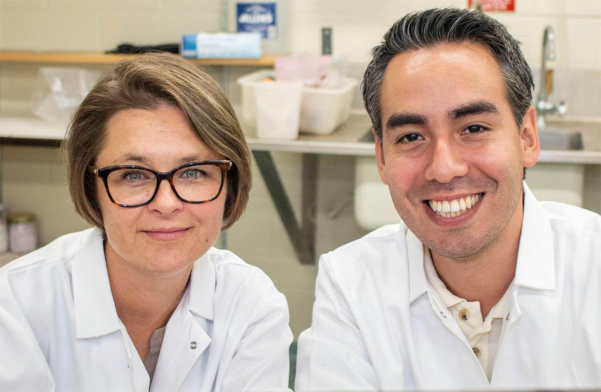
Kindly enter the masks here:
M 429 181 L 451 182 L 454 177 L 468 174 L 468 162 L 461 147 L 450 140 L 439 140 L 430 150 L 430 158 L 424 175 Z

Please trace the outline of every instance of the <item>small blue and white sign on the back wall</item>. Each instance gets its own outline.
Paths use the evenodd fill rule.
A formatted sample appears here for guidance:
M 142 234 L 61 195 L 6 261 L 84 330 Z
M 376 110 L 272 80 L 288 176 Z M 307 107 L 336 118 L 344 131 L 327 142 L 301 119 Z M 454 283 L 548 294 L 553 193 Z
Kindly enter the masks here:
M 264 40 L 278 38 L 275 2 L 237 3 L 238 32 L 258 32 Z

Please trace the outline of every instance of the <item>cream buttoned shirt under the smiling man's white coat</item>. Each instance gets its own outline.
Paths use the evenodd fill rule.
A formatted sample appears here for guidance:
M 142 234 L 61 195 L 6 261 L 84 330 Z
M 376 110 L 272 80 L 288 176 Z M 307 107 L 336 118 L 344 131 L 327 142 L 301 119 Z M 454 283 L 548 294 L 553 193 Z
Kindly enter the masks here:
M 451 293 L 447 286 L 438 277 L 430 250 L 424 247 L 424 269 L 426 278 L 433 289 L 441 297 L 445 307 L 453 314 L 457 325 L 468 338 L 472 351 L 478 358 L 486 377 L 492 377 L 492 369 L 495 364 L 496 348 L 499 344 L 503 318 L 505 317 L 505 303 L 509 296 L 511 284 L 505 290 L 505 294 L 490 309 L 486 318 L 482 317 L 480 312 L 480 301 L 468 302 L 466 299 L 459 298 Z

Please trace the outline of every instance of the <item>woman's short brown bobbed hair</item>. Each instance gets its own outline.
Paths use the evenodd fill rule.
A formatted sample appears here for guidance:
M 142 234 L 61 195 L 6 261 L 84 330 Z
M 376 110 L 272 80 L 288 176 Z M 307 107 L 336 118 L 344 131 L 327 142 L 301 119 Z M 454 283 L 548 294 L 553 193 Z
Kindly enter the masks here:
M 204 144 L 233 162 L 227 173 L 223 228 L 240 218 L 251 189 L 251 158 L 229 100 L 190 61 L 148 53 L 106 69 L 67 128 L 63 152 L 69 191 L 86 221 L 104 229 L 96 178 L 88 167 L 103 148 L 109 118 L 124 109 L 152 110 L 165 103 L 180 108 Z

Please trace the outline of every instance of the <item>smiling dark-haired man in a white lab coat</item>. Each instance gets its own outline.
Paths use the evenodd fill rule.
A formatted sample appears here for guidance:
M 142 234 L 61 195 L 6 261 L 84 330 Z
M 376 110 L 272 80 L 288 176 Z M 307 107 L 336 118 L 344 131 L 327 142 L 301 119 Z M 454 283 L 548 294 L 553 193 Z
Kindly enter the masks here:
M 403 223 L 320 259 L 297 390 L 601 387 L 601 216 L 523 182 L 532 87 L 479 12 L 409 14 L 374 48 L 363 95 Z

